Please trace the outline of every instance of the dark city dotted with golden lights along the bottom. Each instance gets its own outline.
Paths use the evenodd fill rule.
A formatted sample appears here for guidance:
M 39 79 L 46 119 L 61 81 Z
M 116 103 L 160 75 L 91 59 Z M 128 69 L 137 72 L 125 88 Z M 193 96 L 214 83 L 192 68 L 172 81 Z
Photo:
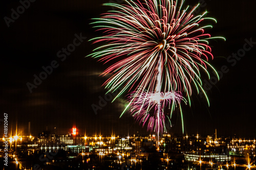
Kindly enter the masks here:
M 38 136 L 15 135 L 0 138 L 1 148 L 3 149 L 5 141 L 10 142 L 9 165 L 13 168 L 16 166 L 16 169 L 63 169 L 63 163 L 65 169 L 116 169 L 118 166 L 128 166 L 131 169 L 173 169 L 189 168 L 191 165 L 192 168 L 194 166 L 193 169 L 200 170 L 208 167 L 256 167 L 255 139 L 218 137 L 217 134 L 165 134 L 161 136 L 157 148 L 157 135 L 90 136 L 77 135 L 76 129 L 72 131 L 73 134 L 67 135 L 56 135 L 46 131 Z M 0 158 L 5 157 L 4 151 L 0 150 Z

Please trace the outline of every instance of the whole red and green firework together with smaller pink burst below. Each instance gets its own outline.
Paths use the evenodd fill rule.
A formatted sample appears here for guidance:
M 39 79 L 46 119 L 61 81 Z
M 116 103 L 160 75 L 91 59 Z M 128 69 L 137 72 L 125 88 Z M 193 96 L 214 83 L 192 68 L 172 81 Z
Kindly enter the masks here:
M 163 128 L 165 105 L 172 105 L 171 114 L 174 104 L 179 105 L 181 100 L 190 105 L 192 86 L 197 93 L 202 91 L 208 102 L 200 70 L 208 77 L 207 67 L 215 71 L 208 63 L 208 58 L 213 58 L 208 40 L 224 38 L 205 33 L 205 29 L 212 26 L 201 25 L 201 22 L 216 20 L 205 17 L 207 12 L 194 16 L 200 4 L 183 10 L 183 0 L 124 2 L 125 5 L 104 4 L 117 10 L 95 18 L 95 27 L 106 35 L 92 40 L 108 44 L 96 48 L 90 56 L 104 63 L 112 62 L 102 74 L 112 75 L 104 83 L 105 87 L 115 91 L 123 86 L 116 98 L 124 92 L 134 91 L 129 98 L 134 117 L 143 124 L 148 119 L 148 127 L 154 124 L 159 132 L 160 126 Z M 149 118 L 151 108 L 157 115 Z

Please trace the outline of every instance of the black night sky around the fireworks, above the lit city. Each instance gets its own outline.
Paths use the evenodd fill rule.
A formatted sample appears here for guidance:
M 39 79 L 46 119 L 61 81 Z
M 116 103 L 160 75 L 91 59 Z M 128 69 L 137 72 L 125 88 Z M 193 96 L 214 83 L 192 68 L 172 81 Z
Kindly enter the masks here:
M 113 103 L 107 102 L 97 114 L 92 109 L 93 104 L 99 105 L 99 96 L 104 98 L 107 91 L 102 84 L 108 77 L 99 75 L 108 64 L 86 57 L 96 47 L 88 40 L 103 35 L 89 23 L 91 18 L 111 10 L 102 6 L 108 2 L 31 2 L 19 17 L 9 22 L 9 27 L 4 17 L 11 18 L 11 9 L 17 11 L 21 4 L 19 1 L 1 3 L 0 119 L 8 113 L 9 131 L 14 131 L 17 123 L 19 134 L 27 134 L 30 121 L 33 135 L 47 127 L 51 132 L 56 127 L 58 134 L 67 134 L 73 126 L 82 134 L 85 130 L 87 134 L 150 133 L 135 123 L 129 112 L 119 118 L 127 103 L 125 96 Z M 185 2 L 186 5 L 197 3 Z M 210 63 L 225 73 L 214 85 L 204 85 L 210 107 L 196 94 L 192 96 L 191 107 L 183 105 L 185 133 L 211 135 L 217 129 L 218 135 L 255 137 L 256 1 L 205 0 L 204 4 L 200 11 L 207 10 L 207 16 L 218 20 L 207 31 L 226 38 L 226 41 L 210 41 L 215 56 Z M 77 36 L 82 38 L 75 42 L 77 46 L 72 53 L 58 53 L 73 44 Z M 245 39 L 252 41 L 251 46 Z M 245 43 L 247 51 L 243 54 Z M 243 57 L 233 58 L 233 53 Z M 51 64 L 55 68 L 49 69 L 47 78 L 37 82 L 37 88 L 30 92 L 27 83 L 33 84 L 34 75 L 39 76 L 44 71 L 42 67 Z M 202 80 L 205 83 L 207 79 L 203 76 Z M 177 112 L 172 124 L 169 132 L 182 134 Z M 3 133 L 3 124 L 1 127 Z

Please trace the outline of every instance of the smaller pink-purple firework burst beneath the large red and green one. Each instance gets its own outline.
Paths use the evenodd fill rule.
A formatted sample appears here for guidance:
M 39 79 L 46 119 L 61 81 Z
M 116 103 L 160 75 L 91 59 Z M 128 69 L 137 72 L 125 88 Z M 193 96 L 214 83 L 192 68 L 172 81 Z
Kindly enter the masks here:
M 144 126 L 148 124 L 147 130 L 166 131 L 164 108 L 174 109 L 181 100 L 184 100 L 180 93 L 177 92 L 142 92 L 138 98 L 134 98 L 136 93 L 130 95 L 131 111 L 134 118 Z M 135 100 L 134 100 L 135 99 Z M 159 116 L 158 116 L 159 113 Z M 159 118 L 159 119 L 158 119 Z M 159 124 L 158 124 L 159 120 Z

